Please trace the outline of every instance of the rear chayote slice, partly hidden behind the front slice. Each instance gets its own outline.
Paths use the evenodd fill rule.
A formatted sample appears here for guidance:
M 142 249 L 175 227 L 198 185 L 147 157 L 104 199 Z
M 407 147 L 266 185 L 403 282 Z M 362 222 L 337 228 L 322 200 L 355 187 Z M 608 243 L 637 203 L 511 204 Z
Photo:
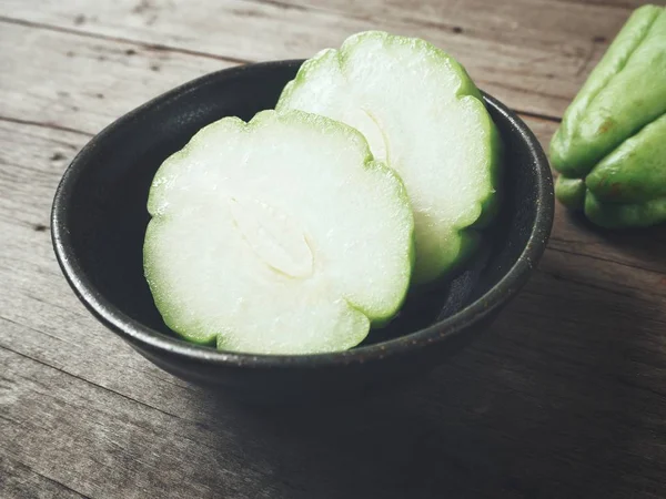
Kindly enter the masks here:
M 475 227 L 495 211 L 501 143 L 478 90 L 453 58 L 420 39 L 359 33 L 307 60 L 276 109 L 354 126 L 401 175 L 414 210 L 416 284 L 470 254 Z

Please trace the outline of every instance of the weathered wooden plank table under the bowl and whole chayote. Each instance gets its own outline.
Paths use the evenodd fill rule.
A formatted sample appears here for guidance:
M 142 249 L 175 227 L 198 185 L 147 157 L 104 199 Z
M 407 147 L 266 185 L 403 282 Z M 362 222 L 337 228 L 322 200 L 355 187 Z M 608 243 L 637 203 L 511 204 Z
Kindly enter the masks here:
M 53 191 L 90 138 L 206 72 L 423 37 L 544 145 L 632 0 L 0 0 L 0 497 L 664 498 L 666 230 L 559 206 L 534 277 L 407 393 L 260 414 L 159 370 L 70 292 Z

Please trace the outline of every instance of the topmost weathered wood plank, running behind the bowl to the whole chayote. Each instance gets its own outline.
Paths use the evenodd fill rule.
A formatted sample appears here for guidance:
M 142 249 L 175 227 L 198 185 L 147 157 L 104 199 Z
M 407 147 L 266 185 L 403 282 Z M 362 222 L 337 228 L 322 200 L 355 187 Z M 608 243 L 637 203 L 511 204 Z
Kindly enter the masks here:
M 475 10 L 455 0 L 385 8 L 377 0 L 325 8 L 265 0 L 6 3 L 11 19 L 253 61 L 310 57 L 367 29 L 417 35 L 450 51 L 480 86 L 512 108 L 551 116 L 562 115 L 627 14 L 527 0 L 475 0 Z

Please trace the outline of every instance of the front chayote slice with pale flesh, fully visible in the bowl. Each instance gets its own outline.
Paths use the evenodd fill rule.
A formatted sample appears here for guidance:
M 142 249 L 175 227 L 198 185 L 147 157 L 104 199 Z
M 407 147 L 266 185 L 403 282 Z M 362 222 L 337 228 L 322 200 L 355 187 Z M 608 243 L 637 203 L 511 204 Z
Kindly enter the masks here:
M 299 111 L 224 118 L 153 180 L 144 271 L 167 325 L 254 354 L 362 342 L 401 306 L 413 215 L 354 129 Z

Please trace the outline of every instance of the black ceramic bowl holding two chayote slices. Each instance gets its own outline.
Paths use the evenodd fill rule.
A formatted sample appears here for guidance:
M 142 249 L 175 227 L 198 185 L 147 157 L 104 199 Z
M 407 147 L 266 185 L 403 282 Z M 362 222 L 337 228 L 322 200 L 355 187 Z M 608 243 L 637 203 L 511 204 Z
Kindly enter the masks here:
M 205 124 L 274 106 L 302 61 L 219 71 L 172 90 L 103 130 L 56 193 L 52 237 L 77 296 L 148 359 L 184 379 L 258 401 L 350 396 L 427 371 L 476 337 L 518 293 L 553 224 L 553 182 L 528 128 L 484 95 L 505 144 L 503 203 L 480 251 L 455 276 L 414 294 L 387 329 L 347 352 L 273 356 L 189 344 L 162 322 L 142 269 L 151 180 Z

